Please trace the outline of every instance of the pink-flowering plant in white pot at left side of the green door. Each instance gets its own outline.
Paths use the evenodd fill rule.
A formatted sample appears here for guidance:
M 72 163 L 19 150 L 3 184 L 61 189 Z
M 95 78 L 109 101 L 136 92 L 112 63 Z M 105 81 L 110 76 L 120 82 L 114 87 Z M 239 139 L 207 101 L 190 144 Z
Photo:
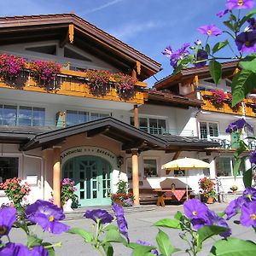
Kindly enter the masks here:
M 61 182 L 61 204 L 64 212 L 73 212 L 72 206 L 76 204 L 77 195 L 74 187 L 74 182 L 68 177 L 65 177 Z

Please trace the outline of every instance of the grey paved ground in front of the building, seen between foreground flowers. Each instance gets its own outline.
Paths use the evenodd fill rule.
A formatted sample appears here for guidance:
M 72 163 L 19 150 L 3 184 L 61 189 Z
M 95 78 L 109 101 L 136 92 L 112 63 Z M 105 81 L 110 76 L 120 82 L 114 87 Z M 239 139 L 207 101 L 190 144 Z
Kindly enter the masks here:
M 227 205 L 222 203 L 214 203 L 209 205 L 209 207 L 217 212 L 221 212 Z M 110 210 L 110 207 L 105 207 Z M 140 210 L 140 211 L 137 211 Z M 154 222 L 160 220 L 161 218 L 173 218 L 173 215 L 177 212 L 183 212 L 183 206 L 166 206 L 166 207 L 156 207 L 156 206 L 143 206 L 143 207 L 131 207 L 125 208 L 125 218 L 127 219 L 129 225 L 129 236 L 131 241 L 143 240 L 148 241 L 156 245 L 155 236 L 158 232 L 158 229 L 153 227 Z M 85 230 L 90 231 L 93 222 L 90 219 L 79 218 L 66 220 L 66 224 L 71 227 L 84 228 Z M 255 237 L 253 229 L 243 228 L 240 225 L 232 224 L 230 221 L 230 226 L 232 227 L 234 236 L 241 237 L 244 239 L 253 239 Z M 32 226 L 32 229 L 34 226 Z M 40 228 L 38 228 L 40 230 Z M 170 236 L 172 244 L 176 247 L 185 249 L 185 244 L 178 236 L 179 230 L 169 230 L 163 229 Z M 11 232 L 12 241 L 25 241 L 24 233 L 19 230 L 13 230 Z M 56 248 L 56 255 L 61 256 L 76 256 L 76 255 L 100 255 L 96 250 L 92 249 L 89 244 L 84 244 L 84 241 L 79 236 L 61 234 L 58 236 L 52 236 L 48 232 L 41 232 L 40 236 L 44 237 L 44 241 L 58 242 L 62 241 L 63 245 L 60 248 Z M 201 256 L 208 255 L 210 248 L 212 247 L 213 241 L 207 241 L 204 245 L 203 251 L 199 254 Z M 114 255 L 117 256 L 130 256 L 131 250 L 120 245 L 114 244 Z M 175 255 L 188 255 L 184 252 L 177 253 Z

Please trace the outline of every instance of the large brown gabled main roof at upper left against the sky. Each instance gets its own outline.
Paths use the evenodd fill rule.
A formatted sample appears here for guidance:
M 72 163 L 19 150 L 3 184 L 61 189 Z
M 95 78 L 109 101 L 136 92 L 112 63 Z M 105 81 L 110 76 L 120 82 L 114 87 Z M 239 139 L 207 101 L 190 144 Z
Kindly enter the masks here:
M 63 39 L 69 24 L 73 24 L 75 29 L 73 44 L 86 44 L 92 50 L 101 45 L 102 52 L 114 54 L 118 61 L 126 61 L 131 68 L 136 61 L 140 61 L 143 79 L 160 71 L 159 62 L 74 14 L 0 17 L 0 44 L 14 44 L 19 40 Z M 90 40 L 94 44 L 89 44 Z

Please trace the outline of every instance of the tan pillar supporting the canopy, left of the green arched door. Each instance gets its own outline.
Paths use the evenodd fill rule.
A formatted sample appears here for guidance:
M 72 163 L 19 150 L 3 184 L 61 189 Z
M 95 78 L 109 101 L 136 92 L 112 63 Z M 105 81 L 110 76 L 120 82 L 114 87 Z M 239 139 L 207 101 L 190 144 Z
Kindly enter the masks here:
M 54 203 L 61 207 L 61 147 L 53 147 L 53 194 Z

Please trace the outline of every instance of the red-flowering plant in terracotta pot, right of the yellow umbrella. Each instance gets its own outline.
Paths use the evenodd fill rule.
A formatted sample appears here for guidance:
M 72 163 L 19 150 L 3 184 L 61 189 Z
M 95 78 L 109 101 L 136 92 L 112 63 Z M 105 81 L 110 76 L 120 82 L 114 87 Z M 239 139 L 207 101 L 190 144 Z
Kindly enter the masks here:
M 215 183 L 209 177 L 203 177 L 199 180 L 199 186 L 203 195 L 203 201 L 211 204 L 215 201 L 217 193 L 215 191 Z

